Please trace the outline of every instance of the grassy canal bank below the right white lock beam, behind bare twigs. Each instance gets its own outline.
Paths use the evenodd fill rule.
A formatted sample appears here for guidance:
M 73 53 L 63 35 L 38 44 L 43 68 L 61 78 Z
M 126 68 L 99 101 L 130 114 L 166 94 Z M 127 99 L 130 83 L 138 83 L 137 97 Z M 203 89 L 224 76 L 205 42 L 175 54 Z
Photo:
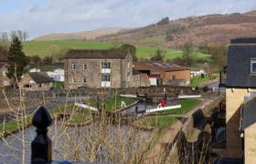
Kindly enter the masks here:
M 155 117 L 155 118 L 146 118 L 144 120 L 144 126 L 150 126 L 155 128 L 168 128 L 172 124 L 176 123 L 178 119 L 169 116 Z

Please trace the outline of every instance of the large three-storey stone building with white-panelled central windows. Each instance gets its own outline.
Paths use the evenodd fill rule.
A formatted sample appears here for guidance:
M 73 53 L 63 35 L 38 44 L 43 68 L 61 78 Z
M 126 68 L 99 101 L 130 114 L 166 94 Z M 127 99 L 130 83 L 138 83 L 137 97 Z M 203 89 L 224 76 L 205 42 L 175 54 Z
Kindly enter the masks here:
M 67 89 L 131 87 L 133 57 L 117 50 L 69 50 L 64 70 Z

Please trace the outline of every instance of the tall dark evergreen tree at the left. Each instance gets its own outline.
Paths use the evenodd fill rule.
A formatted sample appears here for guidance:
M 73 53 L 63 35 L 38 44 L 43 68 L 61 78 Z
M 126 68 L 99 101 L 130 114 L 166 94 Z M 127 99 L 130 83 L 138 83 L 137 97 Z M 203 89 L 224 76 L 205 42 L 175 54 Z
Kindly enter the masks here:
M 21 42 L 16 36 L 13 37 L 13 42 L 8 52 L 8 60 L 10 66 L 8 67 L 7 76 L 14 79 L 20 79 L 25 73 L 25 67 L 27 66 L 27 58 L 22 51 Z

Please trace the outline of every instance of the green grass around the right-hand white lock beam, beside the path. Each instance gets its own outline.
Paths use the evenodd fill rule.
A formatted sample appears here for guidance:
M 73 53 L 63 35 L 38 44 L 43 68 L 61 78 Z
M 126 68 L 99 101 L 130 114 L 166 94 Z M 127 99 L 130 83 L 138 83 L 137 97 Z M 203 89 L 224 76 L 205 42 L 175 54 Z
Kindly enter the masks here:
M 162 114 L 186 114 L 191 109 L 196 108 L 201 101 L 198 99 L 179 99 L 176 105 L 181 105 L 181 108 L 160 111 Z M 172 104 L 173 105 L 173 104 Z

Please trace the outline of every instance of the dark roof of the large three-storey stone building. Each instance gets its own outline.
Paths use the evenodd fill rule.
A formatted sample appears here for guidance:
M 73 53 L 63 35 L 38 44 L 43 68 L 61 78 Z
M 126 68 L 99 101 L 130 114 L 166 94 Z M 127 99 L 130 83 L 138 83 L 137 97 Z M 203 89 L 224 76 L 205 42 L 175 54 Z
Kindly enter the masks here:
M 118 50 L 71 49 L 64 58 L 125 58 L 127 52 Z

